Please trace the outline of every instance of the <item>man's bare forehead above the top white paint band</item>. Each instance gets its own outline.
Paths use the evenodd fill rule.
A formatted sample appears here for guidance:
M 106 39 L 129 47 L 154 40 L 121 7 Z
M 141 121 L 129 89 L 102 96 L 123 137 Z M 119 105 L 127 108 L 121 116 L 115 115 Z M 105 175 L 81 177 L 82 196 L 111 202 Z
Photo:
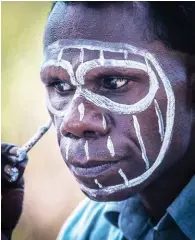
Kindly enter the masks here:
M 150 38 L 146 3 L 107 3 L 90 8 L 83 3 L 59 2 L 51 12 L 45 31 L 44 46 L 59 39 L 89 39 L 123 42 L 145 47 Z

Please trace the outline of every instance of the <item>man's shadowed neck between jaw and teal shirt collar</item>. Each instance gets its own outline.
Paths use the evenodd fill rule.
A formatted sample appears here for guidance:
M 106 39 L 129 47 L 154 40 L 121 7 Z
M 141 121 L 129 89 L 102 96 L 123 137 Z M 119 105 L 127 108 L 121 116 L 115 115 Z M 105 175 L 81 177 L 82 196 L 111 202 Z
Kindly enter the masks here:
M 194 150 L 190 153 L 140 193 L 142 203 L 154 223 L 162 218 L 168 206 L 195 174 Z

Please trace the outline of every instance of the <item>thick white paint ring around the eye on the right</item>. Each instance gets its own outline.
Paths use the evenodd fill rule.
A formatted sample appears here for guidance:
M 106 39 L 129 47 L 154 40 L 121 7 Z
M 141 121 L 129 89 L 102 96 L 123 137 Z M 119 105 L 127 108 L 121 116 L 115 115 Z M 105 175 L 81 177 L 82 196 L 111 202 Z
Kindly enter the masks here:
M 85 62 L 79 65 L 76 76 L 77 80 L 83 84 L 84 77 L 87 72 L 92 70 L 93 68 L 97 68 L 100 66 L 99 60 L 92 60 Z M 131 60 L 104 60 L 104 66 L 113 66 L 113 67 L 123 67 L 123 68 L 132 68 L 132 69 L 140 69 L 147 73 L 147 66 L 143 63 L 131 61 Z M 114 102 L 105 96 L 101 96 L 99 94 L 93 93 L 87 89 L 82 89 L 80 94 L 86 98 L 88 101 L 92 102 L 98 107 L 110 110 L 111 112 L 115 112 L 117 114 L 134 114 L 137 112 L 142 112 L 147 109 L 154 100 L 156 92 L 159 88 L 157 77 L 154 71 L 150 68 L 149 75 L 149 91 L 147 95 L 142 98 L 137 103 L 127 105 Z

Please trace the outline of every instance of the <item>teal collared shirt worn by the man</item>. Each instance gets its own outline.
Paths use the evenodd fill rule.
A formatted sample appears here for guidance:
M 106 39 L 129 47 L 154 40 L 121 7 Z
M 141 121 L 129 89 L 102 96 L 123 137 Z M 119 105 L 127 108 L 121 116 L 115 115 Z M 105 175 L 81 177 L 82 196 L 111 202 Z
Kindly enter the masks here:
M 84 200 L 57 240 L 195 240 L 195 176 L 154 226 L 138 196 L 121 202 Z

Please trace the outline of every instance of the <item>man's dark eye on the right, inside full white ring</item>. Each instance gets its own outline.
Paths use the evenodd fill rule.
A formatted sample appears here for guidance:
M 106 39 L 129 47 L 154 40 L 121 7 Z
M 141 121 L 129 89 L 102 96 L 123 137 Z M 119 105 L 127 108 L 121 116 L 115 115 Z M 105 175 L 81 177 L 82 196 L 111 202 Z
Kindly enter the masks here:
M 128 83 L 128 80 L 120 77 L 107 77 L 102 81 L 102 87 L 107 89 L 118 89 Z

